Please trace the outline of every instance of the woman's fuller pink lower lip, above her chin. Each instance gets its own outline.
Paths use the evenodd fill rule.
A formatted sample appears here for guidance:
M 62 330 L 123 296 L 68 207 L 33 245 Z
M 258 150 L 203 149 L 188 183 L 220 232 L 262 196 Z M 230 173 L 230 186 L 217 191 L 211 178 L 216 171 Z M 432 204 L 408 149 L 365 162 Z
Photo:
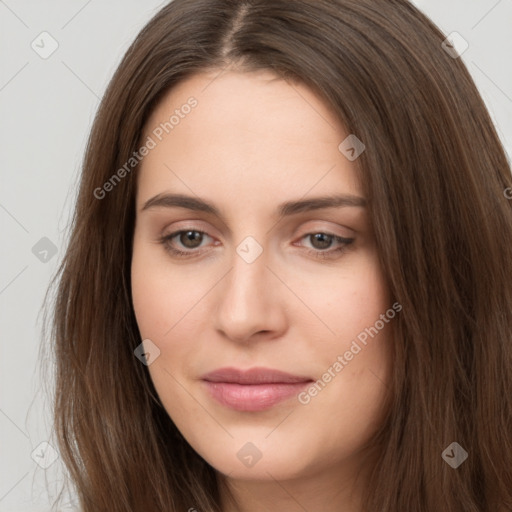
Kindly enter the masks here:
M 264 411 L 297 396 L 311 382 L 234 384 L 203 381 L 209 393 L 222 405 L 237 411 Z

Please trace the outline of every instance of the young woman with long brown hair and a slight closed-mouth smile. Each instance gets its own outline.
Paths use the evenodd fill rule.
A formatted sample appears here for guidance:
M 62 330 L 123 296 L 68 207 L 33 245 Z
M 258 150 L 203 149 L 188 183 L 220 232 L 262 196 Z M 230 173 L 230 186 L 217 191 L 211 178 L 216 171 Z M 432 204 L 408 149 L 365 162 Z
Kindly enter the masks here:
M 512 508 L 512 179 L 405 0 L 175 0 L 98 111 L 54 340 L 84 511 Z

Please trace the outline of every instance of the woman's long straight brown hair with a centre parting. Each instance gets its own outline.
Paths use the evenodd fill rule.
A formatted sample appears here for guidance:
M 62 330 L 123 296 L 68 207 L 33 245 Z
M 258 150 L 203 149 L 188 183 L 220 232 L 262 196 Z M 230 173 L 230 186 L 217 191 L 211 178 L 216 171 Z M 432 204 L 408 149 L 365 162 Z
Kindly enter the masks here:
M 96 115 L 52 282 L 55 434 L 84 512 L 220 510 L 216 471 L 133 353 L 136 166 L 98 189 L 166 92 L 232 65 L 308 85 L 366 146 L 361 183 L 403 309 L 365 510 L 512 509 L 512 179 L 445 37 L 406 0 L 174 0 L 140 32 Z M 454 441 L 457 469 L 441 457 Z

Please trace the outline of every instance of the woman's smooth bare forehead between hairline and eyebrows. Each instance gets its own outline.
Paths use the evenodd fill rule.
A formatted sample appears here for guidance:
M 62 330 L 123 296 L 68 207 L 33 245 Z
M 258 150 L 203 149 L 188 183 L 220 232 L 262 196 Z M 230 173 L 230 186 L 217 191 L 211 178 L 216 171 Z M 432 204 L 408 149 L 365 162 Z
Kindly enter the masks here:
M 155 146 L 139 166 L 138 204 L 165 191 L 236 194 L 246 204 L 308 190 L 360 195 L 355 164 L 338 149 L 347 135 L 303 84 L 266 70 L 200 73 L 170 90 L 145 125 L 143 140 Z

